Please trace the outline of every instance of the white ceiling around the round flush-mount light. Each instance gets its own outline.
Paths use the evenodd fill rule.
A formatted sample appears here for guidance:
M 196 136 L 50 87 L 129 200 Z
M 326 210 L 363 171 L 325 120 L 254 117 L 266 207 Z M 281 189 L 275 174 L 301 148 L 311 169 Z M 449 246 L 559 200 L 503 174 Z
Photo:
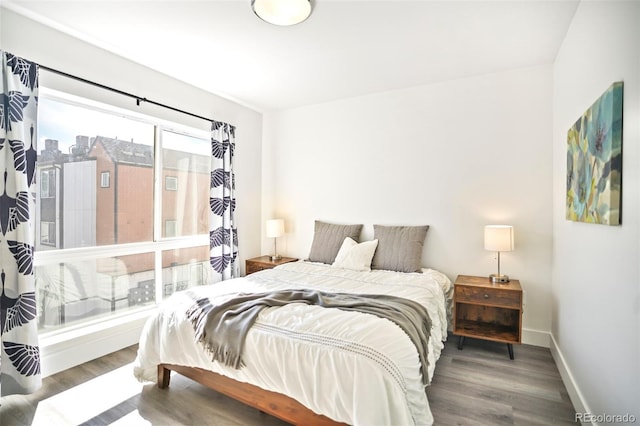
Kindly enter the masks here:
M 315 0 L 292 27 L 261 21 L 250 0 L 4 3 L 269 111 L 552 63 L 578 1 Z

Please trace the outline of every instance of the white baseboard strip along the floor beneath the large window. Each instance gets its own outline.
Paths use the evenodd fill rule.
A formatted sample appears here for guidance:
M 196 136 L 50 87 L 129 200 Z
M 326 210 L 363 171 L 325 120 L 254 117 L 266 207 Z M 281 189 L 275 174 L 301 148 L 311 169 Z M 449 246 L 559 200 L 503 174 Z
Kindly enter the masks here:
M 136 344 L 150 311 L 40 338 L 42 377 Z

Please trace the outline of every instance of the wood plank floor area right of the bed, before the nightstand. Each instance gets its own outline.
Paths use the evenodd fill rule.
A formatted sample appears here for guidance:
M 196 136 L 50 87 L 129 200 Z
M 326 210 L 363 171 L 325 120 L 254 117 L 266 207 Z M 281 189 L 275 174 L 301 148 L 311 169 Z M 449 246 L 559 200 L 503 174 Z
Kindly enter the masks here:
M 436 425 L 576 425 L 549 349 L 450 337 L 427 388 Z

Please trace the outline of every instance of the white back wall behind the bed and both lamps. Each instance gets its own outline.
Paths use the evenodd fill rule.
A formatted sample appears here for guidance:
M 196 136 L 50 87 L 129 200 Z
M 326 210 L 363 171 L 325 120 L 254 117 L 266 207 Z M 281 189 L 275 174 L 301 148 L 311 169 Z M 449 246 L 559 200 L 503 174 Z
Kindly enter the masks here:
M 315 219 L 363 223 L 363 239 L 428 224 L 423 264 L 451 279 L 496 272 L 483 227 L 513 224 L 502 271 L 526 291 L 525 340 L 546 345 L 551 104 L 548 65 L 265 114 L 264 218 L 286 220 L 280 252 L 296 257 Z

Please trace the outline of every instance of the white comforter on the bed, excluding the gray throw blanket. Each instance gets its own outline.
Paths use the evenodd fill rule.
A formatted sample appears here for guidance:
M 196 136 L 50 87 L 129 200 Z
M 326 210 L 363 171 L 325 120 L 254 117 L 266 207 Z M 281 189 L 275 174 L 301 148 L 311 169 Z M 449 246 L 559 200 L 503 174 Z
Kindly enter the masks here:
M 294 262 L 244 278 L 188 291 L 226 300 L 237 292 L 311 288 L 328 292 L 392 294 L 422 303 L 431 316 L 429 380 L 447 335 L 451 281 L 442 273 L 355 272 Z M 195 342 L 185 311 L 194 299 L 174 294 L 149 318 L 134 374 L 156 381 L 160 363 L 200 367 L 288 395 L 311 410 L 355 425 L 433 423 L 409 337 L 386 319 L 359 312 L 292 303 L 263 310 L 247 334 L 240 370 L 212 362 Z

